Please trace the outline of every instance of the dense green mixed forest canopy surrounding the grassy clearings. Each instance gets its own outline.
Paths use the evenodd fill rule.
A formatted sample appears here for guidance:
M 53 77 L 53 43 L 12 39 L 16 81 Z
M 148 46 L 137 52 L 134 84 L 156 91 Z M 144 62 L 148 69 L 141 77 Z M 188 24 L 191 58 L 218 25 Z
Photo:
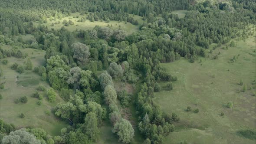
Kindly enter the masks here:
M 135 125 L 145 143 L 161 143 L 164 136 L 174 131 L 180 118 L 173 112 L 164 113 L 152 100 L 154 92 L 161 91 L 159 82 L 168 82 L 166 88 L 172 90 L 175 87 L 172 82 L 179 79 L 166 72 L 160 63 L 174 62 L 181 57 L 194 62 L 199 56 L 207 56 L 205 50 L 212 43 L 221 46 L 232 38 L 246 39 L 249 36 L 246 27 L 256 23 L 254 0 L 201 3 L 196 0 L 1 0 L 0 3 L 0 43 L 13 47 L 0 49 L 1 61 L 12 56 L 26 58 L 27 54 L 18 48 L 45 50 L 46 65 L 34 67 L 33 71 L 51 86 L 47 90 L 49 102 L 56 101 L 55 93 L 59 92 L 65 102 L 54 107 L 54 114 L 70 124 L 62 128 L 60 136 L 50 137 L 43 129 L 16 130 L 5 123 L 8 121 L 1 120 L 2 144 L 97 142 L 99 128 L 107 120 L 123 143 L 132 141 Z M 174 10 L 188 11 L 180 18 L 171 13 Z M 72 25 L 72 20 L 62 19 L 77 12 L 87 16 L 81 20 L 115 20 L 133 25 L 138 25 L 138 21 L 131 15 L 138 15 L 143 24 L 138 32 L 129 35 L 111 26 L 69 31 L 67 26 Z M 65 26 L 60 29 L 45 26 L 48 20 L 61 20 Z M 23 40 L 21 36 L 26 34 L 35 39 Z M 12 69 L 23 73 L 32 67 L 28 60 L 24 68 L 16 63 Z M 97 71 L 102 70 L 98 75 Z M 113 81 L 135 84 L 138 90 L 135 94 L 117 91 Z M 38 92 L 34 97 L 39 98 Z M 137 124 L 121 114 L 120 107 L 130 104 L 136 108 Z M 21 138 L 13 140 L 18 136 Z

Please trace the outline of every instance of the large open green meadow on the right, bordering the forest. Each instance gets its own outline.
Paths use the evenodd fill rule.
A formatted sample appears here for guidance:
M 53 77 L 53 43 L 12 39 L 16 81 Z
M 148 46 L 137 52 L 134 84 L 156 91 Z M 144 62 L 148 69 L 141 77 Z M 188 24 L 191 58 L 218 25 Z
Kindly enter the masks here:
M 172 75 L 177 75 L 178 81 L 173 82 L 172 91 L 155 93 L 154 101 L 164 112 L 175 112 L 181 118 L 181 122 L 175 124 L 177 130 L 165 137 L 164 143 L 184 140 L 197 144 L 256 143 L 255 139 L 238 136 L 238 131 L 256 129 L 256 97 L 253 96 L 256 91 L 255 43 L 255 37 L 250 37 L 228 50 L 217 48 L 210 54 L 210 49 L 207 49 L 209 58 L 199 57 L 195 63 L 182 58 L 161 64 Z M 218 52 L 221 53 L 218 59 L 212 59 Z M 237 55 L 240 56 L 236 62 L 230 62 Z M 246 92 L 241 92 L 240 79 L 247 85 Z M 164 87 L 166 83 L 161 82 L 161 85 Z M 226 107 L 228 101 L 233 101 L 233 108 Z M 187 106 L 192 111 L 187 112 Z M 199 113 L 194 113 L 196 108 Z

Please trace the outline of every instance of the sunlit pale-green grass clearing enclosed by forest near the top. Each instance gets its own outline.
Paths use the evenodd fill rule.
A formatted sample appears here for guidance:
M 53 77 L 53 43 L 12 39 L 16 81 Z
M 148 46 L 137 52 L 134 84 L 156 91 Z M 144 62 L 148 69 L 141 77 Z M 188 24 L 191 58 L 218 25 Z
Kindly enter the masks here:
M 73 16 L 79 16 L 79 18 L 73 18 Z M 57 20 L 49 21 L 49 19 L 47 19 L 47 23 L 43 23 L 42 25 L 48 26 L 49 28 L 60 29 L 60 28 L 62 28 L 62 26 L 64 26 L 64 24 L 62 23 L 63 20 L 67 20 L 67 21 L 72 20 L 72 22 L 74 22 L 74 25 L 64 26 L 69 31 L 75 31 L 76 29 L 92 30 L 96 25 L 98 25 L 98 26 L 108 26 L 108 25 L 111 26 L 112 25 L 112 29 L 120 28 L 120 29 L 127 31 L 128 34 L 131 34 L 133 32 L 138 31 L 139 26 L 141 24 L 143 24 L 142 17 L 137 16 L 137 15 L 132 16 L 132 17 L 134 18 L 134 20 L 138 20 L 138 23 L 139 23 L 138 26 L 135 26 L 131 23 L 125 24 L 124 21 L 118 23 L 118 21 L 115 21 L 115 20 L 111 20 L 109 23 L 106 23 L 105 21 L 101 22 L 100 20 L 94 21 L 94 22 L 91 22 L 90 20 L 86 20 L 85 22 L 78 22 L 81 19 L 81 17 L 86 17 L 86 14 L 81 16 L 79 13 L 72 13 L 71 16 L 66 16 L 66 17 L 62 18 L 62 20 L 57 19 Z M 58 21 L 60 21 L 60 23 L 57 23 L 57 24 L 54 24 L 54 26 L 51 26 L 52 23 L 55 23 Z M 38 24 L 39 24 L 38 22 L 34 22 L 35 26 L 37 26 Z M 119 27 L 119 25 L 120 25 L 120 27 Z

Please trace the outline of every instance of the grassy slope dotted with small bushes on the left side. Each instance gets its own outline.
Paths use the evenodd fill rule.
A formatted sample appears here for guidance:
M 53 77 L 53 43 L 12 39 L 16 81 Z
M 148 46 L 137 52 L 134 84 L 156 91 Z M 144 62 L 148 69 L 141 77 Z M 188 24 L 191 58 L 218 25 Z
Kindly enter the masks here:
M 3 49 L 10 49 L 10 46 L 1 46 Z M 45 64 L 45 51 L 36 49 L 21 49 L 23 53 L 28 53 L 34 66 Z M 34 53 L 32 55 L 32 52 Z M 62 99 L 57 96 L 55 103 L 49 103 L 47 98 L 44 97 L 42 105 L 37 105 L 36 98 L 32 98 L 31 95 L 35 92 L 39 84 L 45 85 L 49 88 L 46 82 L 41 81 L 41 77 L 34 72 L 25 71 L 23 74 L 10 69 L 10 66 L 17 62 L 23 65 L 25 59 L 16 59 L 14 57 L 7 58 L 9 63 L 7 65 L 1 64 L 3 70 L 3 76 L 1 77 L 1 83 L 6 82 L 5 88 L 1 89 L 3 99 L 0 101 L 0 117 L 8 123 L 13 123 L 18 128 L 23 127 L 39 127 L 45 129 L 51 135 L 60 134 L 60 129 L 65 127 L 66 124 L 57 119 L 52 113 L 46 115 L 45 111 L 51 111 L 53 106 L 57 102 L 61 102 Z M 16 76 L 18 78 L 16 79 Z M 31 85 L 33 81 L 34 85 Z M 17 84 L 19 83 L 19 84 Z M 23 87 L 22 85 L 28 85 Z M 41 92 L 43 96 L 46 92 Z M 28 102 L 26 104 L 15 104 L 13 100 L 26 95 Z M 25 118 L 19 118 L 20 113 L 25 113 Z

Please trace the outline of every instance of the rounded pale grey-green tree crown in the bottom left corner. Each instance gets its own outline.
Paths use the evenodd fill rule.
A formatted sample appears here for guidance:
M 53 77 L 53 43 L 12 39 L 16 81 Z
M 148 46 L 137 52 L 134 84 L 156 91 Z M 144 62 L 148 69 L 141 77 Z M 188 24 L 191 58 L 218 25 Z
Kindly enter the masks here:
M 4 136 L 2 144 L 41 144 L 41 142 L 33 134 L 26 132 L 26 129 L 20 129 Z

